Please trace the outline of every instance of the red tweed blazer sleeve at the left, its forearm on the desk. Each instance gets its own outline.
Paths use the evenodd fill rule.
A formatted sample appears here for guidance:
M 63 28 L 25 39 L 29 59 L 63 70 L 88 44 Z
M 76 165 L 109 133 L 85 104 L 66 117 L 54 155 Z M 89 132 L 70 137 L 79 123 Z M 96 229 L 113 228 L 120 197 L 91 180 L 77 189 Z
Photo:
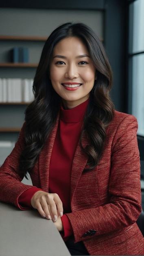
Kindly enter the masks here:
M 21 182 L 24 175 L 19 172 L 19 157 L 24 146 L 23 127 L 14 149 L 0 167 L 0 201 L 15 204 L 22 210 L 29 207 L 21 207 L 18 198 L 24 191 L 33 187 Z

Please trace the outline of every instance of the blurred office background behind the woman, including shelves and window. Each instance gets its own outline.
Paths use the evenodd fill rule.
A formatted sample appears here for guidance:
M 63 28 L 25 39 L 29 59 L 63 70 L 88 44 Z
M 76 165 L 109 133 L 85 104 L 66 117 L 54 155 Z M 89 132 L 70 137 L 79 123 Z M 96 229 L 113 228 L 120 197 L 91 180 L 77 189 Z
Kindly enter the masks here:
M 63 22 L 89 25 L 105 46 L 113 70 L 111 98 L 116 110 L 135 115 L 141 159 L 144 208 L 144 0 L 5 0 L 0 1 L 0 165 L 11 152 L 24 122 L 41 50 Z M 26 61 L 11 50 L 28 50 Z M 13 81 L 21 88 L 13 88 Z M 7 88 L 7 91 L 5 90 Z M 13 88 L 13 90 L 11 90 Z M 13 91 L 18 102 L 11 97 Z

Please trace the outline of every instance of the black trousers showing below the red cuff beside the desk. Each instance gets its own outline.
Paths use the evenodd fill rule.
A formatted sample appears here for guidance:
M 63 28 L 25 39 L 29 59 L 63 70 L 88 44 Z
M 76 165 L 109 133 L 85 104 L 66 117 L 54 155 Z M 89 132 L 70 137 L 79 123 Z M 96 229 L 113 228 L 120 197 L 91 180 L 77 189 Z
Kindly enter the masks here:
M 83 242 L 74 243 L 74 238 L 72 236 L 65 242 L 65 245 L 71 255 L 89 255 Z

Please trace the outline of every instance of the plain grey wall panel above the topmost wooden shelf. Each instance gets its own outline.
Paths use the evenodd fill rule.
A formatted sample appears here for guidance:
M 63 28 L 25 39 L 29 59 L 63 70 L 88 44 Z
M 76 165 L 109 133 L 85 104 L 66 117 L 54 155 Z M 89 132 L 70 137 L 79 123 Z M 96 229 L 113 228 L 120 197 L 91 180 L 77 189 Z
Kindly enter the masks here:
M 103 11 L 0 8 L 0 34 L 48 36 L 63 22 L 84 22 L 103 38 Z

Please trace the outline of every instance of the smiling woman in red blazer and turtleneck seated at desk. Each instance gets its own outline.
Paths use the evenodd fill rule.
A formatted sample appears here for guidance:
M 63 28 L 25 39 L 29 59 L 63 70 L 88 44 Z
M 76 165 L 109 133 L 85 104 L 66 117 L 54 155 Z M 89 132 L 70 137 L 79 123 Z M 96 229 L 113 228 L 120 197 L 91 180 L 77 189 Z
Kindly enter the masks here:
M 0 200 L 52 219 L 71 255 L 142 255 L 135 117 L 114 110 L 102 43 L 82 23 L 55 29 L 34 101 L 0 169 Z M 33 186 L 20 181 L 30 173 Z M 9 184 L 7 186 L 6 184 Z

